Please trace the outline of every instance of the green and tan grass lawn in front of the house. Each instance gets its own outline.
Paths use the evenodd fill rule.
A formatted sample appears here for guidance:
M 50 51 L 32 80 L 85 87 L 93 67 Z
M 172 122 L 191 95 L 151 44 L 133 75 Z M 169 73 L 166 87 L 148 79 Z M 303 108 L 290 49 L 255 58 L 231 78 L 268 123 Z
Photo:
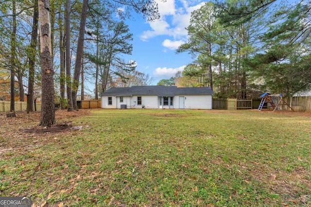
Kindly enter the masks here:
M 310 206 L 311 115 L 93 110 L 0 154 L 1 196 L 45 206 Z M 17 138 L 1 137 L 1 147 Z

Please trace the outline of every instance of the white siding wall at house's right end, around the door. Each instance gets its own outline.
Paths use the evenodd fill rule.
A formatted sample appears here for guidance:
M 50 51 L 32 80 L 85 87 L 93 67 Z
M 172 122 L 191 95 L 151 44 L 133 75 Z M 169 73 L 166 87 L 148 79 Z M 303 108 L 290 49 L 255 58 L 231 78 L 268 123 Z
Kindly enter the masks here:
M 185 109 L 212 109 L 211 95 L 185 95 Z M 179 96 L 173 100 L 174 109 L 179 109 Z

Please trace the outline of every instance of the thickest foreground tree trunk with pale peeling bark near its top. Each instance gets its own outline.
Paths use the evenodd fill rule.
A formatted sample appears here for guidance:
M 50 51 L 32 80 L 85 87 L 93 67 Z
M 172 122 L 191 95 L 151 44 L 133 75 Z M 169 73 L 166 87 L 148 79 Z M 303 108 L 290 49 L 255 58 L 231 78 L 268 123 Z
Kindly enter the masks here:
M 51 126 L 55 123 L 54 82 L 52 65 L 50 2 L 38 0 L 40 23 L 40 60 L 42 76 L 42 101 L 40 126 Z

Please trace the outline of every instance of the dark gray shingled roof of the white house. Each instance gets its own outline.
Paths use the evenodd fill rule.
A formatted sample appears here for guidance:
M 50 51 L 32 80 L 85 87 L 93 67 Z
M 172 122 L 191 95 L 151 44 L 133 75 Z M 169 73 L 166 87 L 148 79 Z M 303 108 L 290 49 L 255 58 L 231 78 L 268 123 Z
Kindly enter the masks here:
M 176 86 L 132 86 L 129 88 L 110 88 L 102 96 L 176 96 L 176 95 L 212 95 L 209 87 L 177 88 Z

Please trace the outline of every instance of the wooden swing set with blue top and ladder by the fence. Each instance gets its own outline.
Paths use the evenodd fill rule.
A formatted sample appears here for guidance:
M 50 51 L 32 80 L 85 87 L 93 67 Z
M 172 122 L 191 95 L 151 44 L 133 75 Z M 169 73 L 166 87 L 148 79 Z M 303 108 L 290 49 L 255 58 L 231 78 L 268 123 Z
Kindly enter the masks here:
M 272 112 L 276 110 L 280 110 L 279 106 L 281 107 L 282 105 L 288 106 L 291 110 L 292 107 L 284 101 L 282 98 L 282 94 L 269 94 L 269 93 L 264 93 L 261 96 L 261 102 L 259 104 L 258 110 L 261 111 L 262 107 L 266 104 L 267 107 L 271 107 L 273 109 Z M 268 105 L 269 104 L 269 105 Z M 270 109 L 270 108 L 269 108 Z M 293 110 L 294 111 L 294 110 Z

